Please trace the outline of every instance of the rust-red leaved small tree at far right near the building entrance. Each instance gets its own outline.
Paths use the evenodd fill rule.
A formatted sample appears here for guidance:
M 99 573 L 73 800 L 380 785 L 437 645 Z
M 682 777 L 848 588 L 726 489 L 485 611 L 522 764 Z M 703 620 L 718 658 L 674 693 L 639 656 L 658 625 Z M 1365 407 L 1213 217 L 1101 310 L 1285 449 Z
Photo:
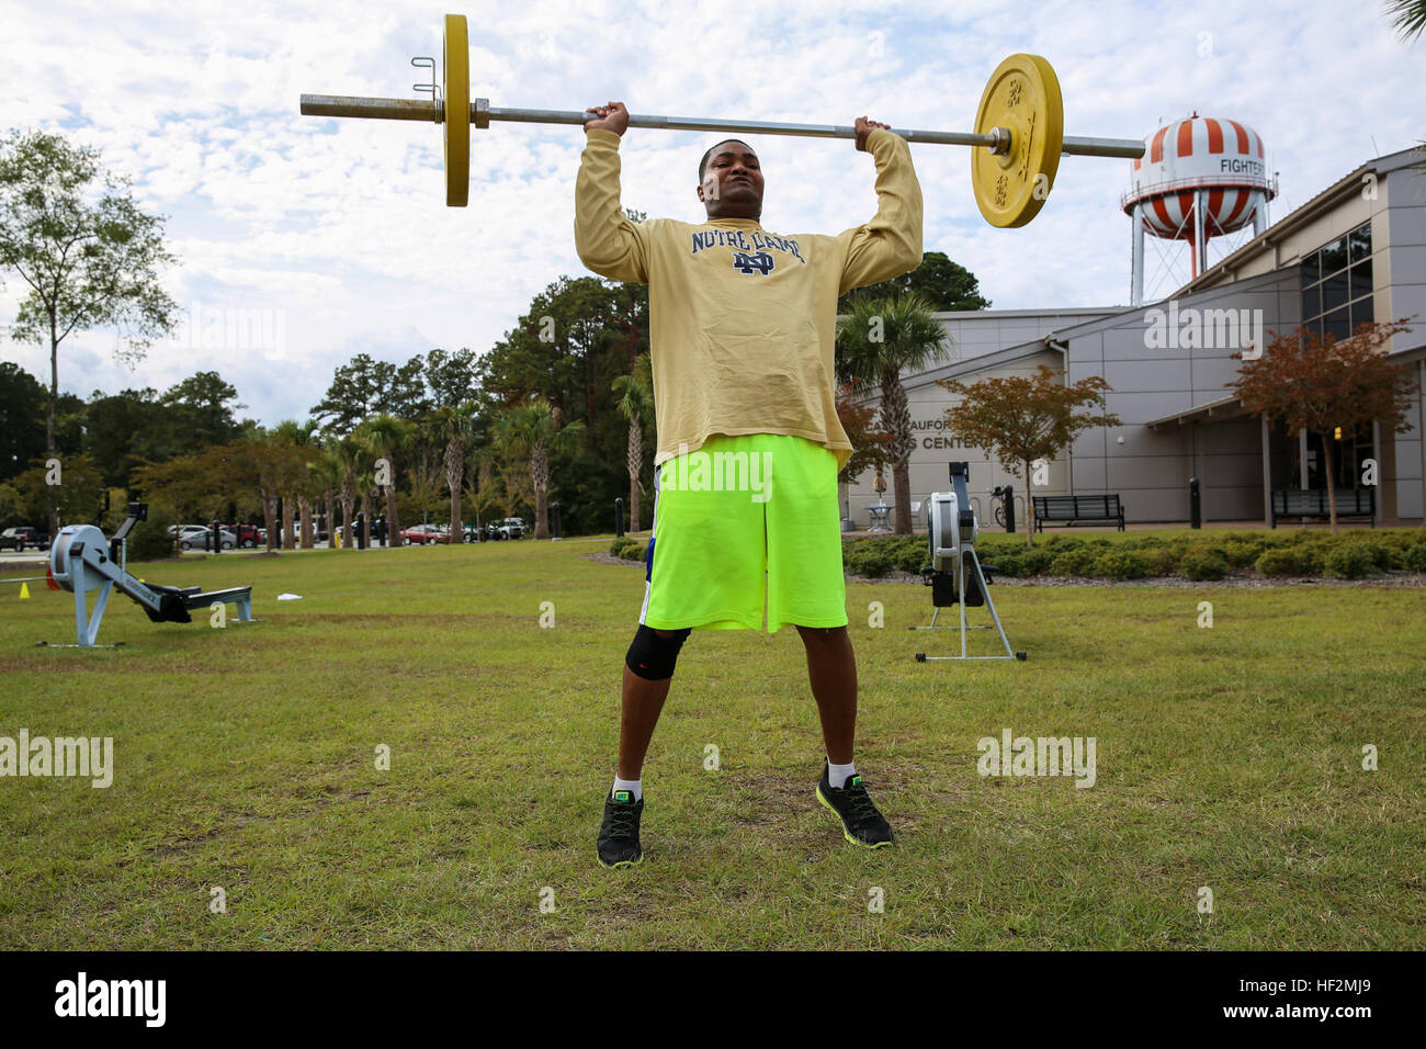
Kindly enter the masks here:
M 1322 461 L 1328 475 L 1328 511 L 1336 531 L 1336 487 L 1332 471 L 1332 442 L 1336 427 L 1355 430 L 1373 420 L 1397 434 L 1410 431 L 1406 422 L 1416 388 L 1410 373 L 1382 354 L 1393 335 L 1410 331 L 1406 320 L 1359 324 L 1350 338 L 1332 333 L 1318 335 L 1298 328 L 1276 335 L 1261 357 L 1243 361 L 1232 387 L 1253 415 L 1286 424 L 1291 432 L 1312 430 L 1322 434 Z M 1242 358 L 1242 354 L 1233 354 Z

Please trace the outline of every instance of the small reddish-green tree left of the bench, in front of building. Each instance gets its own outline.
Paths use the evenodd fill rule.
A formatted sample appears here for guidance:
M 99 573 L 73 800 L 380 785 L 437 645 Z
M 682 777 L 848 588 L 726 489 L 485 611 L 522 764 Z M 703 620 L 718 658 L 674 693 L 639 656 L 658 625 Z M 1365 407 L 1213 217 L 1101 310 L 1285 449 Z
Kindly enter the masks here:
M 980 382 L 937 380 L 935 382 L 964 400 L 945 410 L 951 434 L 970 445 L 988 448 L 1011 474 L 1015 464 L 1024 468 L 1025 491 L 1038 460 L 1051 462 L 1075 435 L 1091 427 L 1117 427 L 1118 415 L 1075 411 L 1082 405 L 1104 408 L 1109 384 L 1089 375 L 1070 385 L 1064 371 L 1041 364 L 1034 378 L 1011 375 Z M 1030 502 L 1025 545 L 1035 545 L 1035 504 Z

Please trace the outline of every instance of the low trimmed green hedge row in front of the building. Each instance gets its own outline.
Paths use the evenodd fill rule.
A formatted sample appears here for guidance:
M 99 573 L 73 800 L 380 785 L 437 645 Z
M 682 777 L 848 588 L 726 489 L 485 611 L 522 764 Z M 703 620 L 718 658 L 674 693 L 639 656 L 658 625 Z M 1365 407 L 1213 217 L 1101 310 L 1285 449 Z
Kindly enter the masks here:
M 1426 528 L 1330 532 L 1202 532 L 1118 539 L 1047 535 L 1027 548 L 1024 538 L 981 535 L 975 552 L 1002 575 L 1082 575 L 1144 579 L 1181 575 L 1222 579 L 1229 569 L 1266 577 L 1312 575 L 1362 579 L 1386 571 L 1426 572 Z M 877 578 L 893 569 L 917 574 L 930 564 L 925 537 L 861 538 L 843 542 L 848 572 Z

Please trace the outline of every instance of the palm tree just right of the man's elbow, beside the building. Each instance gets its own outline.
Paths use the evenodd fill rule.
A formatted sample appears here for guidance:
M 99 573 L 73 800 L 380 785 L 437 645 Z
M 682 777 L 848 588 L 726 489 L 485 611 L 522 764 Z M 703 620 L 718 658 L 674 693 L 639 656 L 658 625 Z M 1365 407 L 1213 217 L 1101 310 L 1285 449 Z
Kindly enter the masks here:
M 945 353 L 945 330 L 918 294 L 864 298 L 837 318 L 837 378 L 861 388 L 881 390 L 878 427 L 893 435 L 891 478 L 896 500 L 896 534 L 911 534 L 911 411 L 901 373 L 925 371 Z

